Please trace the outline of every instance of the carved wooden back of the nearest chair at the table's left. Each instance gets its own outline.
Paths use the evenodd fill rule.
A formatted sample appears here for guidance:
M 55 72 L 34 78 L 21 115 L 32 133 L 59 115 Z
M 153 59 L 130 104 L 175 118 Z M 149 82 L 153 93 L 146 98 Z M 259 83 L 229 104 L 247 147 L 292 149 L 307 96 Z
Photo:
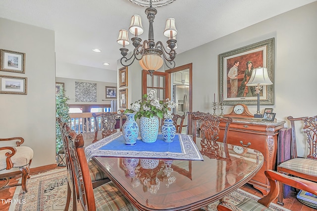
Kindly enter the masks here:
M 85 156 L 83 136 L 82 134 L 76 135 L 67 123 L 60 122 L 60 127 L 65 140 L 63 144 L 67 148 L 65 157 L 68 163 L 67 170 L 71 178 L 73 197 L 77 199 L 73 200 L 73 210 L 77 209 L 77 203 L 79 203 L 84 211 L 96 211 L 93 184 Z

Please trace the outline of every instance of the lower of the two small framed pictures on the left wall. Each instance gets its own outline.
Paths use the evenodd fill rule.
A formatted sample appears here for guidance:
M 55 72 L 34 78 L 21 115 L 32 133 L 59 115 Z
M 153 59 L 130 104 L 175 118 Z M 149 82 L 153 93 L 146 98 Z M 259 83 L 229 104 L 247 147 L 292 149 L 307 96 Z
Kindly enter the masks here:
M 0 93 L 26 95 L 27 78 L 0 75 Z

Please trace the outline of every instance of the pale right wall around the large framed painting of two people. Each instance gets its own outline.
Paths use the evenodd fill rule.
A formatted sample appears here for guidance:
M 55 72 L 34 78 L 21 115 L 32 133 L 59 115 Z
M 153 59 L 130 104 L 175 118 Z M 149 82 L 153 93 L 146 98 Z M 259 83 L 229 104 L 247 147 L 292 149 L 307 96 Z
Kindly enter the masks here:
M 211 112 L 213 93 L 219 93 L 219 54 L 275 38 L 275 74 L 273 106 L 278 120 L 287 116 L 317 114 L 317 2 L 275 16 L 203 46 L 177 54 L 177 66 L 193 63 L 193 110 Z M 257 106 L 248 106 L 256 113 Z M 232 106 L 225 106 L 229 113 Z M 220 113 L 217 110 L 217 113 Z M 298 134 L 298 136 L 301 136 Z M 299 156 L 304 156 L 305 141 L 298 143 Z

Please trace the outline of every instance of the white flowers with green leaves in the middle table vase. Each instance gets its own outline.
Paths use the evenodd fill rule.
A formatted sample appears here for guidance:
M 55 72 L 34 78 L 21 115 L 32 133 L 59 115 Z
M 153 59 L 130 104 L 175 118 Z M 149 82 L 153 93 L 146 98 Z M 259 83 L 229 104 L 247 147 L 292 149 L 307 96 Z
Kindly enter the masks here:
M 166 98 L 165 101 L 159 101 L 156 97 L 157 91 L 150 90 L 147 94 L 142 96 L 142 100 L 138 100 L 131 104 L 130 109 L 125 109 L 124 113 L 136 113 L 135 119 L 142 116 L 151 118 L 158 116 L 159 118 L 170 119 L 172 118 L 172 112 L 170 108 L 174 108 L 176 104 Z

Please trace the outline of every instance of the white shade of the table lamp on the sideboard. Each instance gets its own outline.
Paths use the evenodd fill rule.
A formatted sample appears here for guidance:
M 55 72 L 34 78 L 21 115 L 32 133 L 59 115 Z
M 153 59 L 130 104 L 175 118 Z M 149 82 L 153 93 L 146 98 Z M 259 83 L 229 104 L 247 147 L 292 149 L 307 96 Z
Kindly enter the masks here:
M 252 75 L 247 86 L 255 87 L 258 85 L 265 86 L 273 84 L 269 80 L 267 69 L 265 67 L 259 67 L 252 70 Z

